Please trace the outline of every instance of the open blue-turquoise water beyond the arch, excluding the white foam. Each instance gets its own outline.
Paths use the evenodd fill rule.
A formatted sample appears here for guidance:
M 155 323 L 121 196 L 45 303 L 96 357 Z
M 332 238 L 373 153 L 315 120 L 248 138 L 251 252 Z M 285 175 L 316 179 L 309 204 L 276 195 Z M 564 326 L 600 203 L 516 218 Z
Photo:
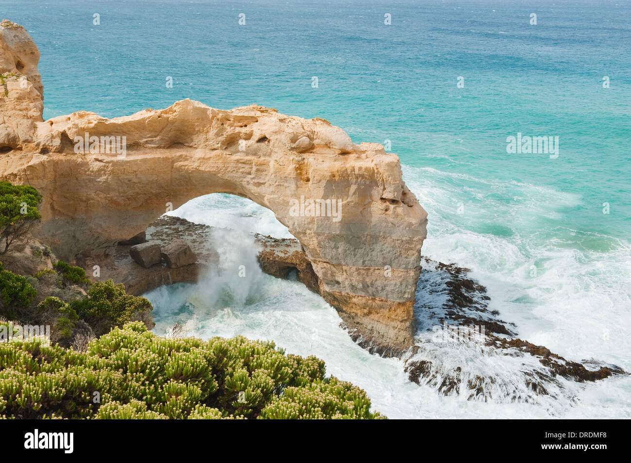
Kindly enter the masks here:
M 489 191 L 476 180 L 447 183 L 454 191 L 485 191 L 473 207 L 487 198 L 519 203 L 521 183 L 576 195 L 565 205 L 552 194 L 548 205 L 558 215 L 533 211 L 529 232 L 548 229 L 550 239 L 565 239 L 553 232 L 557 227 L 595 233 L 589 246 L 603 251 L 618 246 L 608 237 L 628 238 L 628 2 L 3 0 L 0 6 L 40 48 L 46 118 L 79 109 L 115 117 L 182 98 L 217 108 L 258 103 L 325 117 L 357 142 L 389 139 L 404 164 L 514 185 Z M 529 24 L 531 12 L 537 25 Z M 167 76 L 174 88 L 166 88 Z M 456 87 L 459 76 L 464 88 Z M 603 76 L 610 77 L 609 89 Z M 517 132 L 557 135 L 558 158 L 507 154 L 506 137 Z M 451 219 L 471 231 L 509 233 L 503 217 L 493 223 L 467 217 Z

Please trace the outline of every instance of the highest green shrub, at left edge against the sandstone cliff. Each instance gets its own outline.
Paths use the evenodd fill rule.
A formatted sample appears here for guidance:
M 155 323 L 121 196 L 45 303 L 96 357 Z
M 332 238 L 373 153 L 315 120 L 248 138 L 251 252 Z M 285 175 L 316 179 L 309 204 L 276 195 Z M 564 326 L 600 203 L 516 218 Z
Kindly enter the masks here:
M 0 254 L 6 253 L 11 244 L 26 236 L 33 225 L 42 218 L 37 206 L 42 195 L 32 186 L 11 185 L 0 181 Z

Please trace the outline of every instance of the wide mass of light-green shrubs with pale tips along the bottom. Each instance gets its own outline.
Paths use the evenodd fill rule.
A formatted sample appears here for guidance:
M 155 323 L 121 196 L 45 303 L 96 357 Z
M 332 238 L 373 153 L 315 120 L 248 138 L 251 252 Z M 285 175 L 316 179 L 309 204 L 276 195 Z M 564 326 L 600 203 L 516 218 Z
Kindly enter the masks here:
M 97 400 L 100 397 L 100 400 Z M 86 352 L 0 343 L 6 418 L 383 418 L 315 357 L 242 337 L 161 338 L 139 322 Z

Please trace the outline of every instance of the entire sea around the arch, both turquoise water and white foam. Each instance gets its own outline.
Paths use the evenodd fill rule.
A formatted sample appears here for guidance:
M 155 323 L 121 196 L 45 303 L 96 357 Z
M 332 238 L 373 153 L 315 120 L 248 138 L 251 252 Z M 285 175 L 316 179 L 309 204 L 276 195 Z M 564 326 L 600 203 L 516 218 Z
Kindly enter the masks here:
M 191 98 L 326 118 L 356 143 L 389 140 L 428 211 L 425 255 L 471 268 L 522 339 L 631 370 L 629 1 L 0 0 L 0 11 L 40 49 L 45 118 Z M 508 153 L 517 133 L 558 137 L 558 157 Z M 286 233 L 253 203 L 211 196 L 176 213 Z M 567 404 L 440 397 L 406 382 L 397 360 L 353 345 L 319 297 L 267 277 L 230 307 L 209 304 L 199 285 L 148 297 L 158 328 L 194 316 L 200 336 L 315 353 L 392 418 L 631 416 L 628 378 Z

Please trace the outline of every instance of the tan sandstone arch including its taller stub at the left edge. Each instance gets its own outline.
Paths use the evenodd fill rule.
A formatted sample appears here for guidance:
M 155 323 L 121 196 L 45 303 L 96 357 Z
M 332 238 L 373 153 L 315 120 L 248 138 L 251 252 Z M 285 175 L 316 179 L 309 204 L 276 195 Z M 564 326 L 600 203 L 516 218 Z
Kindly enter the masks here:
M 262 106 L 217 110 L 182 100 L 107 119 L 42 120 L 38 51 L 3 22 L 0 178 L 35 186 L 39 236 L 65 260 L 113 261 L 117 242 L 167 209 L 232 193 L 272 210 L 295 236 L 319 293 L 367 336 L 411 345 L 427 213 L 398 156 L 354 144 L 326 120 Z

